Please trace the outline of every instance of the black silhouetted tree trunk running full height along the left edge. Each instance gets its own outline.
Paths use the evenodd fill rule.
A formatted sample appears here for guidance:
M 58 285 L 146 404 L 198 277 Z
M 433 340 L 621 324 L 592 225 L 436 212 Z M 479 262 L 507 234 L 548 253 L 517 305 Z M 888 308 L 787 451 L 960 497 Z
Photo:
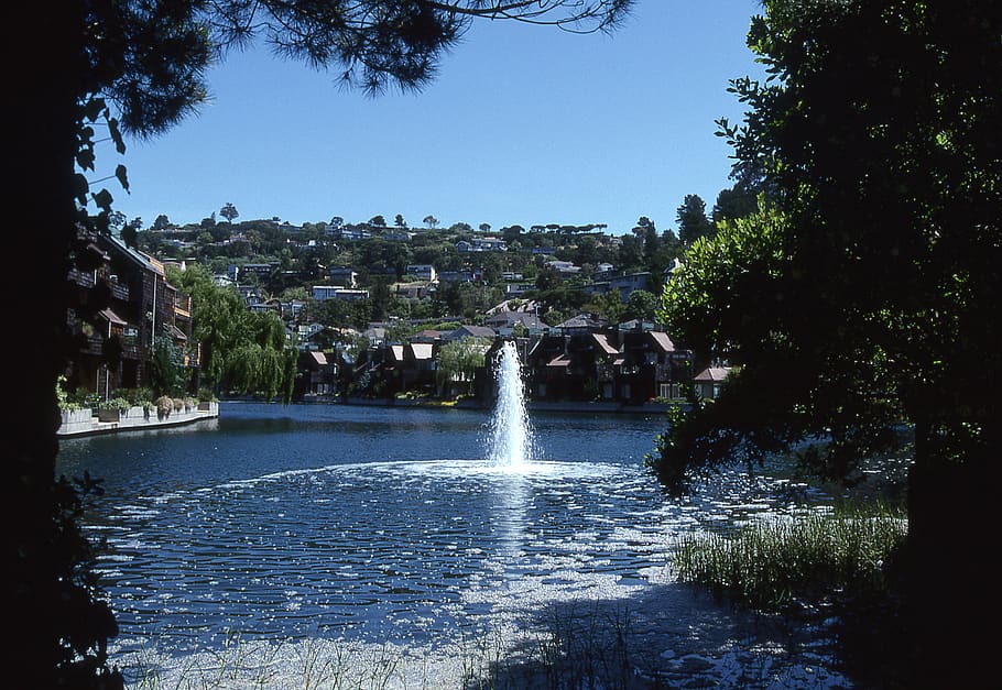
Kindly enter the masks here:
M 83 3 L 81 3 L 83 4 Z M 24 687 L 100 687 L 94 666 L 68 669 L 64 642 L 87 657 L 92 601 L 72 576 L 79 533 L 62 519 L 75 494 L 56 483 L 55 383 L 67 352 L 67 251 L 75 234 L 76 97 L 85 74 L 76 3 L 19 2 L 4 18 L 8 304 L 3 358 L 4 676 Z M 75 632 L 76 631 L 76 632 Z M 57 668 L 62 665 L 62 668 Z

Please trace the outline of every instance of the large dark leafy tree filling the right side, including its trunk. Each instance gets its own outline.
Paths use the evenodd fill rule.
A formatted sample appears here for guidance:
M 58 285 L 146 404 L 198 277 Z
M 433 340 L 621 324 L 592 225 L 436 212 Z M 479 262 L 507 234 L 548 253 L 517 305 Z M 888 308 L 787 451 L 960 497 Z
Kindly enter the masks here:
M 991 549 L 1002 382 L 1002 12 L 974 1 L 773 0 L 749 43 L 774 78 L 723 132 L 762 171 L 751 217 L 693 243 L 668 322 L 740 364 L 667 432 L 658 469 L 804 439 L 830 477 L 912 446 L 897 557 L 908 687 L 982 686 L 998 620 Z M 782 385 L 780 385 L 782 382 Z M 906 432 L 902 432 L 902 427 Z

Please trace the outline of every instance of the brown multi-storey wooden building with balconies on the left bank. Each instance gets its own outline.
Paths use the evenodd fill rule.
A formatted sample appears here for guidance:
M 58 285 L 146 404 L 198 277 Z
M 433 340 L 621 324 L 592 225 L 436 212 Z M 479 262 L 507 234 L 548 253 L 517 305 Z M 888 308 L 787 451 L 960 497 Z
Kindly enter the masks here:
M 192 338 L 192 299 L 167 283 L 161 262 L 119 238 L 80 229 L 78 240 L 67 274 L 67 327 L 76 342 L 67 385 L 102 397 L 149 386 L 155 343 L 166 341 L 196 390 L 202 352 Z

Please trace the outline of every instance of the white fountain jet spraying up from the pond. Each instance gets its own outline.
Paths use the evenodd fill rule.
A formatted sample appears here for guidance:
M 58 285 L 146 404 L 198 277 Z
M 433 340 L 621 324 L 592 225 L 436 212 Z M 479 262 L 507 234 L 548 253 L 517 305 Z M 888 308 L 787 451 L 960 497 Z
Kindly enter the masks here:
M 523 397 L 522 365 L 511 340 L 495 354 L 498 401 L 491 417 L 489 458 L 491 464 L 516 469 L 533 460 L 533 436 Z

